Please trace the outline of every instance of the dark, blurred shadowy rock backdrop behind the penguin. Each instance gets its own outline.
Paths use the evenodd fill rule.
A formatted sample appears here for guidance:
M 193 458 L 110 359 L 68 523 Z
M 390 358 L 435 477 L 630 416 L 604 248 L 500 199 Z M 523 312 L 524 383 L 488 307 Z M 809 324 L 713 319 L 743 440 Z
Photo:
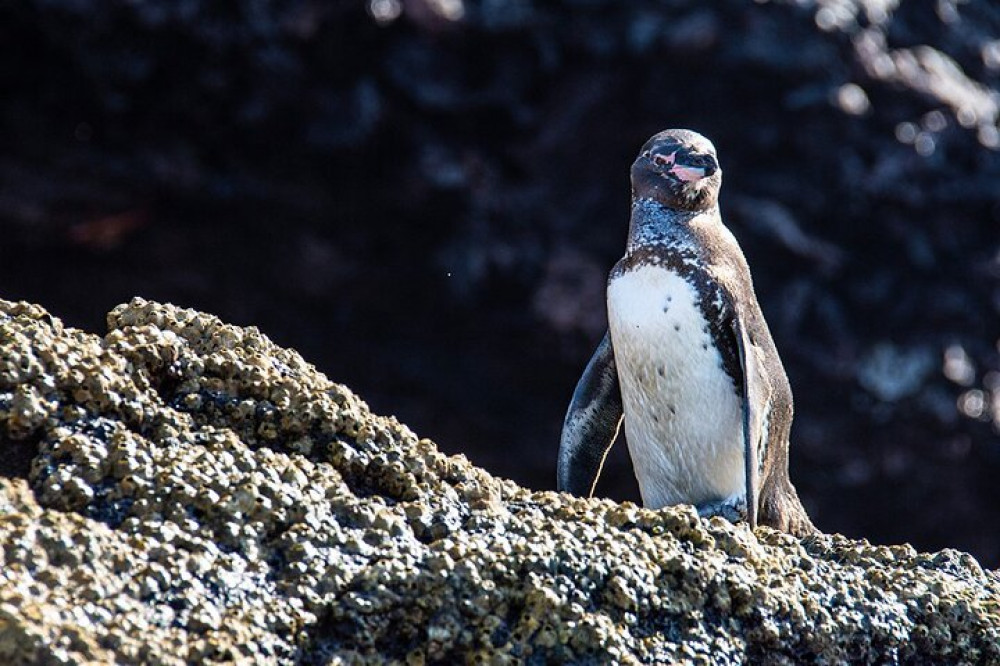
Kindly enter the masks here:
M 642 142 L 716 144 L 821 529 L 1000 565 L 1000 8 L 0 6 L 0 296 L 256 325 L 554 486 Z M 624 443 L 599 492 L 637 499 Z

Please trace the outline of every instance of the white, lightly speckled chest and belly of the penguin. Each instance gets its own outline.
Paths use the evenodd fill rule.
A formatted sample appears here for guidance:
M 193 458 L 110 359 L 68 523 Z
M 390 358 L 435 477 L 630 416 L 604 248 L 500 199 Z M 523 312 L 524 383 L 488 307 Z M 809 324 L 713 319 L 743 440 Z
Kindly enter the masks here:
M 625 437 L 643 503 L 745 494 L 742 403 L 686 280 L 641 266 L 608 287 Z

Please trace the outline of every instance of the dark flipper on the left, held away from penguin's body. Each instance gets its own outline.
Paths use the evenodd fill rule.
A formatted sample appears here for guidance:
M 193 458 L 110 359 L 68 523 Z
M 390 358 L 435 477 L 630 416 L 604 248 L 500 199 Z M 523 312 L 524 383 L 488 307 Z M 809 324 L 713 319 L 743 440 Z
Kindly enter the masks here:
M 621 423 L 618 368 L 611 335 L 605 333 L 576 384 L 563 422 L 556 474 L 559 490 L 582 497 L 594 494 L 604 459 L 618 436 Z

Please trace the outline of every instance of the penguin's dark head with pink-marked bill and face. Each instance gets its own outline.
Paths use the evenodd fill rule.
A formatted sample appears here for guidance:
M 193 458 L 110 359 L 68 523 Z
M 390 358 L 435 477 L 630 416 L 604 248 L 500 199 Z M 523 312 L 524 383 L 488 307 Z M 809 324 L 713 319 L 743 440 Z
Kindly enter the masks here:
M 632 197 L 652 199 L 668 208 L 713 208 L 721 186 L 715 146 L 691 130 L 654 134 L 632 163 Z

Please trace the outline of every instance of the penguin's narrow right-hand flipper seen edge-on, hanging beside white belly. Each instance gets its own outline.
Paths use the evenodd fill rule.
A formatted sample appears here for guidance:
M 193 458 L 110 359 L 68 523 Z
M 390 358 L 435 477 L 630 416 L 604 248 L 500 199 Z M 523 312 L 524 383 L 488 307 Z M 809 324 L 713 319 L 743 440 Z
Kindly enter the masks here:
M 757 527 L 760 498 L 760 450 L 764 440 L 763 424 L 770 405 L 770 384 L 761 353 L 743 326 L 737 313 L 732 319 L 736 347 L 743 371 L 743 464 L 747 484 L 747 522 Z

